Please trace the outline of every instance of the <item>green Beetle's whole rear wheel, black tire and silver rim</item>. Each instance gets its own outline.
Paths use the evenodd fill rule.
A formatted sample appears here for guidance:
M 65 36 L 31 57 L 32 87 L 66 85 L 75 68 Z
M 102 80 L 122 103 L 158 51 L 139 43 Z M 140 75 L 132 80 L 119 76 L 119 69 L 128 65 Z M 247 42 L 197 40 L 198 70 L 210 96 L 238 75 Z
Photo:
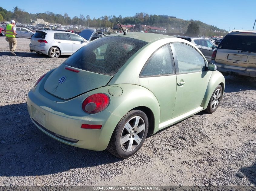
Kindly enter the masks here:
M 119 121 L 107 150 L 118 158 L 128 158 L 141 148 L 147 134 L 147 115 L 140 110 L 131 110 Z

